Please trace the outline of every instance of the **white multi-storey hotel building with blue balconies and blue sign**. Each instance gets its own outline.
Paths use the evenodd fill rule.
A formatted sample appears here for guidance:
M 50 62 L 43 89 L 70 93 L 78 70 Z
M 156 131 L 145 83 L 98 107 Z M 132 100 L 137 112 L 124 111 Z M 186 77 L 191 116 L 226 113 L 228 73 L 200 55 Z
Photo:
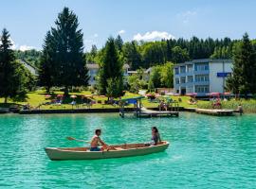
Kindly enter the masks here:
M 174 66 L 174 93 L 205 96 L 224 93 L 232 60 L 192 60 Z

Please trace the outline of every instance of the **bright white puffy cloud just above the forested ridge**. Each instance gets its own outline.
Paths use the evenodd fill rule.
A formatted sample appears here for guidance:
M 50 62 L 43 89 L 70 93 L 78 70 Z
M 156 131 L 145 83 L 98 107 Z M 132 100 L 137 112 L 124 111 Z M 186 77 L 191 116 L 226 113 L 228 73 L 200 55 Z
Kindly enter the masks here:
M 134 36 L 134 40 L 136 41 L 156 41 L 161 39 L 174 39 L 175 37 L 166 32 L 166 31 L 152 31 L 152 32 L 146 32 L 145 34 L 137 33 Z

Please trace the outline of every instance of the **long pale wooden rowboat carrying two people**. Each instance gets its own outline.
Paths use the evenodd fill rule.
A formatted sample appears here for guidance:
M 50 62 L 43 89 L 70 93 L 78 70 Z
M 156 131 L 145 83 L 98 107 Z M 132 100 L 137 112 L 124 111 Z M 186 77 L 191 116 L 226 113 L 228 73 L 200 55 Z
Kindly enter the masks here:
M 125 144 L 104 151 L 90 151 L 89 147 L 46 147 L 46 154 L 50 160 L 96 160 L 106 158 L 122 158 L 129 156 L 142 156 L 164 151 L 169 146 L 166 141 L 157 146 L 145 144 Z

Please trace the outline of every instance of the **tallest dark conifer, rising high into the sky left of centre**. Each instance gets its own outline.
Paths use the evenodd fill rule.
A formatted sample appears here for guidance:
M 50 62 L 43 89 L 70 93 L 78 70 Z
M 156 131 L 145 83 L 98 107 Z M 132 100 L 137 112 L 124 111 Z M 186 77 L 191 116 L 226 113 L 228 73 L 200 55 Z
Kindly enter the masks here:
M 55 85 L 64 86 L 65 94 L 72 86 L 86 86 L 88 70 L 83 57 L 82 29 L 73 11 L 64 8 L 51 28 L 52 41 L 55 43 L 54 62 L 58 73 L 54 76 Z

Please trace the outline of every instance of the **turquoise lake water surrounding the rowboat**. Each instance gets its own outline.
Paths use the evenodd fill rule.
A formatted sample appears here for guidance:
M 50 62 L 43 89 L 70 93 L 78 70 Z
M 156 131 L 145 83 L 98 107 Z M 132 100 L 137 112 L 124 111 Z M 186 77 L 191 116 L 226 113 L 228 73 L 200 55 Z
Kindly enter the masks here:
M 52 162 L 46 146 L 83 146 L 96 128 L 108 144 L 150 141 L 166 152 L 96 161 Z M 255 188 L 256 115 L 119 118 L 118 114 L 0 115 L 0 188 Z

